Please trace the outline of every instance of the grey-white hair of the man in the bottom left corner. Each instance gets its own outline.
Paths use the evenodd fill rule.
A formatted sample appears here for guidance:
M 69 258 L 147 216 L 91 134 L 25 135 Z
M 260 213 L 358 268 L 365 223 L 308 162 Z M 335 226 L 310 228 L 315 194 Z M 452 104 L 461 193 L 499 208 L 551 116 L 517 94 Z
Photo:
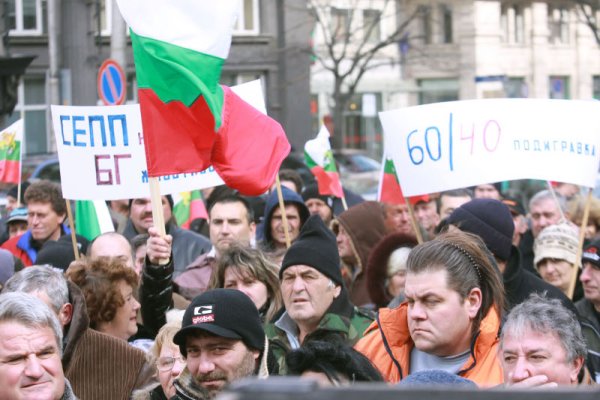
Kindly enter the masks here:
M 62 327 L 56 314 L 42 300 L 27 293 L 0 295 L 0 323 L 16 322 L 30 328 L 52 329 L 59 355 L 62 357 Z

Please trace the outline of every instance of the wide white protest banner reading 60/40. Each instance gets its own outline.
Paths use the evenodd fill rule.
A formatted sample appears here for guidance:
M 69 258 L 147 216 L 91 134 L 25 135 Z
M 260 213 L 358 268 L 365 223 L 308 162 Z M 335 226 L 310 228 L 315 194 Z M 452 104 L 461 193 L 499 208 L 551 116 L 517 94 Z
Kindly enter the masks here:
M 385 151 L 406 196 L 514 179 L 593 187 L 600 102 L 455 101 L 382 112 Z

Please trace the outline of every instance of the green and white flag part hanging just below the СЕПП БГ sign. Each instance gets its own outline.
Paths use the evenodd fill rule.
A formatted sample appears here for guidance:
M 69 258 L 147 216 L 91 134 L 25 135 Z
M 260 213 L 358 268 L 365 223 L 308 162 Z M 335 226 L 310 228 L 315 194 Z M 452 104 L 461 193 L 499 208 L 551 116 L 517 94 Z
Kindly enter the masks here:
M 87 240 L 94 240 L 106 232 L 114 232 L 108 206 L 104 200 L 77 200 L 75 202 L 75 231 Z

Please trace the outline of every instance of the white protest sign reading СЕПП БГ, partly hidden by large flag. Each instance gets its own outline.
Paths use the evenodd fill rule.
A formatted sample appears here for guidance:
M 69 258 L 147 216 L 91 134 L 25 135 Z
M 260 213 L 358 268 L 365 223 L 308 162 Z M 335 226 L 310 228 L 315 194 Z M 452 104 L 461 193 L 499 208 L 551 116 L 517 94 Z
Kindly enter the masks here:
M 265 112 L 260 81 L 232 88 Z M 51 106 L 63 196 L 71 200 L 150 197 L 139 105 Z M 162 194 L 222 185 L 212 167 L 159 178 Z

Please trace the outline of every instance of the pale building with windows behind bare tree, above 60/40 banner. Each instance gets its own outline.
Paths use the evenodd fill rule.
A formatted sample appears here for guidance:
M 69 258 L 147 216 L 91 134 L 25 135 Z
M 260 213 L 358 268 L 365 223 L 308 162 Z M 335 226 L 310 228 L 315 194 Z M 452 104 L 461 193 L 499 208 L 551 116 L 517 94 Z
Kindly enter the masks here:
M 354 31 L 384 5 L 392 7 L 380 18 L 380 38 L 408 21 L 400 40 L 374 57 L 380 66 L 365 73 L 344 113 L 345 145 L 366 149 L 374 157 L 381 156 L 378 111 L 493 97 L 600 99 L 600 46 L 576 2 L 329 3 L 331 23 L 352 15 Z M 319 51 L 318 41 L 315 48 Z M 314 64 L 313 125 L 331 112 L 332 86 L 332 75 Z

